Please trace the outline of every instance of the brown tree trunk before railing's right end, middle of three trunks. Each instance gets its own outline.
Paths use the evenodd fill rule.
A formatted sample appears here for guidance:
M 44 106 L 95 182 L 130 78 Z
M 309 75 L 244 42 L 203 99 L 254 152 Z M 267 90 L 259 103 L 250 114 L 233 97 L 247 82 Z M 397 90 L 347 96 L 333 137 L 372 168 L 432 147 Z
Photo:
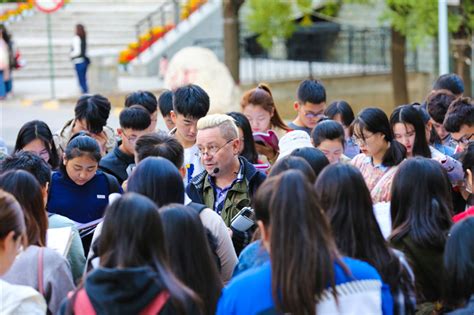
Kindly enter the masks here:
M 405 69 L 406 38 L 391 28 L 392 89 L 395 106 L 408 103 L 407 73 Z

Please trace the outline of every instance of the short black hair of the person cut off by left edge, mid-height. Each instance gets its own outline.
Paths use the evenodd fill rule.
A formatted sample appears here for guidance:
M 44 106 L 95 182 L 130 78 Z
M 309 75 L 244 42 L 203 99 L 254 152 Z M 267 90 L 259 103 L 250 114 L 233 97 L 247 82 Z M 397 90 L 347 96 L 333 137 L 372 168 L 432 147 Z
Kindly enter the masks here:
M 51 167 L 33 152 L 19 151 L 7 156 L 0 165 L 1 173 L 24 170 L 33 175 L 41 187 L 51 182 Z

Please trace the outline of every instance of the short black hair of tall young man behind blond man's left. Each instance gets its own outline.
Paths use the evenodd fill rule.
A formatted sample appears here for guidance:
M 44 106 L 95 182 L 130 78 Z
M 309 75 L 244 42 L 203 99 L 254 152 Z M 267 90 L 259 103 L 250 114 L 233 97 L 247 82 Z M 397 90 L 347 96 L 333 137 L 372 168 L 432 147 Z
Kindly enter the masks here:
M 199 119 L 206 116 L 209 104 L 209 95 L 195 84 L 180 87 L 173 93 L 173 110 L 185 117 Z

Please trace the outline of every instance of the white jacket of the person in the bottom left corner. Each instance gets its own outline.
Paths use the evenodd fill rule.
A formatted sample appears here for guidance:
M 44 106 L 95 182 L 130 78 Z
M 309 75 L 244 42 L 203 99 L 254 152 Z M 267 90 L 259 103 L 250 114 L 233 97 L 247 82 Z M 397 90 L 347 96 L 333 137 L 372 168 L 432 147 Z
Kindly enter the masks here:
M 0 279 L 0 314 L 46 314 L 44 298 L 31 287 Z

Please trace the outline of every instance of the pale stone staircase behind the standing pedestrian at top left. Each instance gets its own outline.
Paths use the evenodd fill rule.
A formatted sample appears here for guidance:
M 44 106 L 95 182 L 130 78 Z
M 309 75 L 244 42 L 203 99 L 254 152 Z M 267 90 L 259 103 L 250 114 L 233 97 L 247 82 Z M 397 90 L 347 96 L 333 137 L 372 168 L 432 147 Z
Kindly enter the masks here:
M 51 15 L 55 75 L 72 78 L 69 58 L 74 27 L 86 27 L 88 52 L 107 49 L 117 54 L 136 39 L 136 23 L 167 0 L 72 0 Z M 26 66 L 15 71 L 15 79 L 49 77 L 46 15 L 33 16 L 9 26 Z

